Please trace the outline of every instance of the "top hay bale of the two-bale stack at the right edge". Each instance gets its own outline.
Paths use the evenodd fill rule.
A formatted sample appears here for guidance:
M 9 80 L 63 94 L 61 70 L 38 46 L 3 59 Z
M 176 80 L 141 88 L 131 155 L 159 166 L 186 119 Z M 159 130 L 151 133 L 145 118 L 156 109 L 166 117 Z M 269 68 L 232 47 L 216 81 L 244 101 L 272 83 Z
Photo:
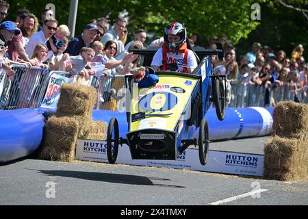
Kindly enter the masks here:
M 284 138 L 307 139 L 308 105 L 284 101 L 274 108 L 274 135 Z

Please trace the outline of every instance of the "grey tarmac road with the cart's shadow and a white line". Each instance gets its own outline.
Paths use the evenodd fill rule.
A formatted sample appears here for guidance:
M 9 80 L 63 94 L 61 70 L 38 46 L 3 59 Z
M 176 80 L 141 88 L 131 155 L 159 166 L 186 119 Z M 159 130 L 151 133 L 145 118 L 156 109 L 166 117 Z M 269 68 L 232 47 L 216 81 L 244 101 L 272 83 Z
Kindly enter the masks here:
M 216 142 L 210 148 L 246 146 L 262 153 L 264 140 Z M 308 205 L 308 179 L 25 159 L 0 166 L 0 205 Z

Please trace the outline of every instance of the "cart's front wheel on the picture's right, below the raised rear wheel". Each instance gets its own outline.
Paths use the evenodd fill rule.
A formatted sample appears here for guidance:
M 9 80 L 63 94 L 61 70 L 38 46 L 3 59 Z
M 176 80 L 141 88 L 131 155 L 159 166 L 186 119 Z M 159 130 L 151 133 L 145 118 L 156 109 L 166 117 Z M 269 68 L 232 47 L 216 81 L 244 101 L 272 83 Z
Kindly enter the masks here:
M 207 164 L 207 155 L 209 154 L 209 126 L 205 118 L 201 120 L 199 127 L 198 149 L 201 165 Z

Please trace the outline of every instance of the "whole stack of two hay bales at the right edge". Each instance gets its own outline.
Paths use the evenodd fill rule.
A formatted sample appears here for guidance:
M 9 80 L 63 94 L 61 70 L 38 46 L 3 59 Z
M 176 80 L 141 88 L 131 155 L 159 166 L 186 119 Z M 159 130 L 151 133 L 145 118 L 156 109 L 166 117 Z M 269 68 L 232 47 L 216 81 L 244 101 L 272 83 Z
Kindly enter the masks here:
M 264 149 L 264 178 L 283 181 L 308 176 L 308 105 L 286 101 L 274 109 L 274 137 Z

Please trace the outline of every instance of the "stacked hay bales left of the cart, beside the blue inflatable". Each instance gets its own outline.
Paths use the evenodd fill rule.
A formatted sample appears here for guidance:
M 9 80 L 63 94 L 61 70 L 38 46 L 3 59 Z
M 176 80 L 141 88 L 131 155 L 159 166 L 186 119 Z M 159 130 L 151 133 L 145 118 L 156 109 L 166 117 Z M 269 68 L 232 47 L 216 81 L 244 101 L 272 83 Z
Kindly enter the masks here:
M 92 120 L 96 99 L 94 88 L 64 83 L 57 112 L 47 121 L 40 158 L 70 162 L 75 158 L 77 138 L 106 139 L 107 124 Z

